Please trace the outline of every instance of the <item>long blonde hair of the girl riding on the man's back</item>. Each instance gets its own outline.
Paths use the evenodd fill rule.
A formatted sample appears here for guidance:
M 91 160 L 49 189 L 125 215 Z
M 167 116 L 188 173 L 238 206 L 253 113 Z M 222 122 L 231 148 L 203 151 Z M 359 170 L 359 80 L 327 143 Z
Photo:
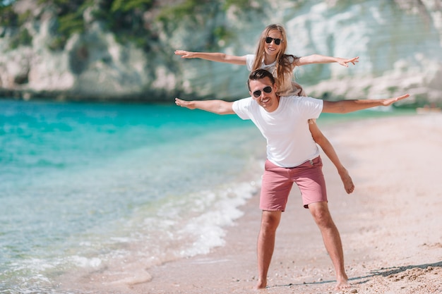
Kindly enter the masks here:
M 294 62 L 299 59 L 299 56 L 292 54 L 285 54 L 287 50 L 287 34 L 285 28 L 282 25 L 272 24 L 265 27 L 261 33 L 261 38 L 258 41 L 258 48 L 256 49 L 255 61 L 253 62 L 252 71 L 256 71 L 261 68 L 261 63 L 265 56 L 265 38 L 268 37 L 271 31 L 277 30 L 282 35 L 282 42 L 280 43 L 280 51 L 276 56 L 275 72 L 272 73 L 276 79 L 277 87 L 287 85 L 292 81 Z

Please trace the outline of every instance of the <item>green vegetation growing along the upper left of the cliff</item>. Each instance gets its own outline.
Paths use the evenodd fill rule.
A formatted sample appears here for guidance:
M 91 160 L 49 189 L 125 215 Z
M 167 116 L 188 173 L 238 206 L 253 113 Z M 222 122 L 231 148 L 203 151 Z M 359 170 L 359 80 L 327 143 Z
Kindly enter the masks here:
M 14 5 L 20 0 L 0 2 L 0 26 L 7 27 L 11 37 L 11 49 L 20 45 L 32 44 L 32 36 L 25 23 L 38 23 L 49 15 L 54 18 L 51 24 L 52 42 L 47 46 L 52 50 L 63 49 L 66 41 L 73 34 L 83 33 L 93 23 L 98 23 L 104 30 L 114 33 L 118 42 L 131 42 L 137 47 L 150 51 L 152 43 L 158 39 L 158 27 L 165 33 L 172 32 L 186 22 L 189 27 L 201 27 L 217 16 L 235 6 L 237 11 L 252 8 L 247 0 L 207 1 L 184 0 L 35 0 L 37 9 L 20 13 L 14 11 Z M 207 27 L 206 27 L 207 28 Z M 222 23 L 213 23 L 210 27 L 204 49 L 215 49 L 219 41 L 228 41 L 232 32 Z

